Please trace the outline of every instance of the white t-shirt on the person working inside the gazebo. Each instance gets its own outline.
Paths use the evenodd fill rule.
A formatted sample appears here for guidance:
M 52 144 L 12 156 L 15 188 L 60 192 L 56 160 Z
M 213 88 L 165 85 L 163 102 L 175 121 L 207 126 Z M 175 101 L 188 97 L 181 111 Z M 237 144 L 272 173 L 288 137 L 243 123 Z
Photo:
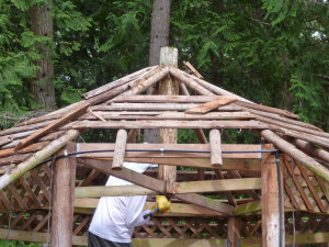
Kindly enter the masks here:
M 110 176 L 106 182 L 106 186 L 131 184 L 133 183 L 113 176 Z M 111 242 L 131 243 L 134 228 L 144 222 L 141 212 L 146 198 L 146 195 L 101 198 L 89 232 Z

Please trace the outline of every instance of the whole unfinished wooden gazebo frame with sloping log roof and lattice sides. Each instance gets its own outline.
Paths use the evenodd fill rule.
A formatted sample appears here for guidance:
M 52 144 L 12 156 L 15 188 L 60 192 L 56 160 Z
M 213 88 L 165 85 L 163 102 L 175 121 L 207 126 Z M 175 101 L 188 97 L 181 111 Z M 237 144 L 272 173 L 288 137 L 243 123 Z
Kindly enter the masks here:
M 170 195 L 170 211 L 135 229 L 135 247 L 329 242 L 329 134 L 170 59 L 0 132 L 0 238 L 86 246 L 100 197 L 148 194 L 150 207 L 161 193 Z M 141 94 L 148 88 L 154 94 Z M 120 130 L 116 142 L 73 142 L 93 128 Z M 159 128 L 160 142 L 135 143 L 146 128 Z M 193 130 L 200 144 L 175 144 L 177 128 Z M 227 128 L 252 130 L 266 144 L 222 144 Z M 159 169 L 140 175 L 123 160 Z M 136 186 L 104 187 L 109 175 Z

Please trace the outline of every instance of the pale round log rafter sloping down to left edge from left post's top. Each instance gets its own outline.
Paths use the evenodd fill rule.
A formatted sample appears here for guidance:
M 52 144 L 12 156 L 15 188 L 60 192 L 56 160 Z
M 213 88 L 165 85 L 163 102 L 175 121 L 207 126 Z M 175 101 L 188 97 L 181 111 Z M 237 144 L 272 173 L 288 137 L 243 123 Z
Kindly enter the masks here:
M 68 131 L 64 136 L 59 139 L 55 139 L 49 143 L 45 148 L 35 153 L 30 159 L 24 162 L 19 164 L 10 173 L 4 173 L 0 177 L 0 190 L 4 189 L 8 184 L 15 181 L 18 178 L 23 176 L 26 171 L 31 170 L 46 158 L 54 155 L 61 147 L 64 147 L 68 142 L 77 138 L 80 132 L 76 130 Z

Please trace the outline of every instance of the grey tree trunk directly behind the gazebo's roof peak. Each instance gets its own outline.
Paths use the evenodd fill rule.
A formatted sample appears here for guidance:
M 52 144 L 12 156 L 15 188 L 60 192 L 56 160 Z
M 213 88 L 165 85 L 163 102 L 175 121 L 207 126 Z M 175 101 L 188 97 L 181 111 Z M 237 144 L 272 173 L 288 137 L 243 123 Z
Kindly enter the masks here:
M 154 12 L 151 20 L 149 65 L 160 64 L 160 49 L 169 45 L 171 0 L 154 0 Z M 151 94 L 152 88 L 147 90 Z M 144 142 L 159 143 L 159 130 L 144 130 Z

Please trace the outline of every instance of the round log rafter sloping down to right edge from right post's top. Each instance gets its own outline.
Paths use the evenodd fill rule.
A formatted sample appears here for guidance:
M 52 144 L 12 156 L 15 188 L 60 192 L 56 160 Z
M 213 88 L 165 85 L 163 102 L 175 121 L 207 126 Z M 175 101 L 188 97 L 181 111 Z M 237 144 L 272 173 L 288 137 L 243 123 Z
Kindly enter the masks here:
M 261 135 L 270 143 L 272 143 L 276 148 L 284 151 L 293 159 L 300 162 L 308 170 L 319 176 L 325 181 L 329 182 L 329 170 L 321 166 L 319 162 L 314 160 L 308 155 L 304 154 L 299 149 L 297 149 L 294 145 L 281 138 L 279 135 L 274 134 L 270 130 L 264 130 L 261 132 Z

